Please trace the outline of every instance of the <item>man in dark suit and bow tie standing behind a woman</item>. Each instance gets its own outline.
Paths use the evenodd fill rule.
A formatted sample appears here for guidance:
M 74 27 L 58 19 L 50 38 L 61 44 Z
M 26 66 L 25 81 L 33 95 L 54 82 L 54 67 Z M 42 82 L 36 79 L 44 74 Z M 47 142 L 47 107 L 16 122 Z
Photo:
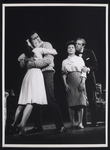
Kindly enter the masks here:
M 85 49 L 86 41 L 83 38 L 76 40 L 76 55 L 83 58 L 86 67 L 84 68 L 87 72 L 86 90 L 87 97 L 91 111 L 91 125 L 97 126 L 97 107 L 96 107 L 96 79 L 95 70 L 98 69 L 98 63 L 96 56 L 92 50 Z M 86 126 L 86 117 L 84 115 L 84 125 Z

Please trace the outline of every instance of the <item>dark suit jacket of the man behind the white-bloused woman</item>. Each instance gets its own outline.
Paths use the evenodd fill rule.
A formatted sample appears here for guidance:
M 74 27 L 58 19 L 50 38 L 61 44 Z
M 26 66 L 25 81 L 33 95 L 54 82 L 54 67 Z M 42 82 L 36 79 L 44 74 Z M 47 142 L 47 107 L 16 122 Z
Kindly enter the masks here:
M 90 72 L 87 73 L 86 85 L 88 88 L 96 89 L 95 70 L 98 69 L 96 56 L 92 50 L 84 49 L 82 58 L 85 66 L 90 68 Z

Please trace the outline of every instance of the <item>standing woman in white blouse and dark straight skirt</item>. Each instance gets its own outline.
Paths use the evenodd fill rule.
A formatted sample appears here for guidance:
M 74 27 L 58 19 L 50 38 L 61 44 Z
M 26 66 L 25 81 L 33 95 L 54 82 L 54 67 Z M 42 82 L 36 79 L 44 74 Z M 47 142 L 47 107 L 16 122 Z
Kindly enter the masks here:
M 68 57 L 62 61 L 63 81 L 66 88 L 67 104 L 71 126 L 84 128 L 82 124 L 83 108 L 86 106 L 86 73 L 82 72 L 85 63 L 81 57 L 75 55 L 75 42 L 67 43 Z M 75 119 L 75 113 L 78 119 Z

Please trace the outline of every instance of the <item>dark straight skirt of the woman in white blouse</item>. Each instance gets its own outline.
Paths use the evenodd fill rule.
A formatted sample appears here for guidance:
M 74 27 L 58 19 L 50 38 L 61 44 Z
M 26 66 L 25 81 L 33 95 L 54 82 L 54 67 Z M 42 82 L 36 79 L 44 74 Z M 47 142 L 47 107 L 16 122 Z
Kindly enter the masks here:
M 81 82 L 80 72 L 71 72 L 67 75 L 67 84 L 70 87 L 70 91 L 67 92 L 68 107 L 73 106 L 86 106 L 85 91 L 79 92 L 78 86 Z

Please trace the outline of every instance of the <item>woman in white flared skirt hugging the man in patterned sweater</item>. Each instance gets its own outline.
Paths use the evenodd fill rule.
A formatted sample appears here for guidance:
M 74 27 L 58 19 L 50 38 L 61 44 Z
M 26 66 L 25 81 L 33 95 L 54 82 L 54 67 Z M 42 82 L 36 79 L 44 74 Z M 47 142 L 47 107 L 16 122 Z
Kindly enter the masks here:
M 34 48 L 32 50 L 28 45 L 24 46 L 22 55 L 19 56 L 18 61 L 25 60 L 26 62 L 33 61 L 34 59 L 41 59 L 43 54 L 56 55 L 55 49 Z M 38 68 L 27 68 L 27 73 L 22 81 L 21 91 L 18 100 L 18 108 L 15 112 L 14 122 L 11 124 L 13 131 L 17 128 L 20 130 L 20 135 L 25 134 L 24 127 L 32 112 L 33 104 L 47 105 L 47 97 L 44 85 L 43 74 Z M 19 125 L 16 125 L 18 117 L 22 110 L 23 116 Z

